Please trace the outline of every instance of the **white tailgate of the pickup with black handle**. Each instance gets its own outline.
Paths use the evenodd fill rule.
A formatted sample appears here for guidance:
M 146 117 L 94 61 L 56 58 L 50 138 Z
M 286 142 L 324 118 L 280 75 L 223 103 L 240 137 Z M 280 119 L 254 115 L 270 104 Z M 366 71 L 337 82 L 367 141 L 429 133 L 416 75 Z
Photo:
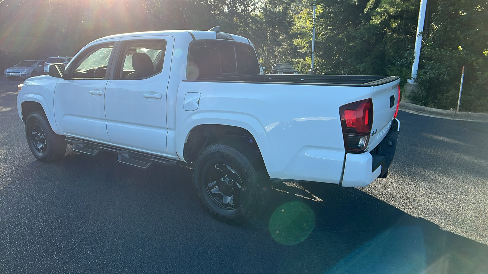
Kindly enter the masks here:
M 375 86 L 372 96 L 373 100 L 373 126 L 371 127 L 372 136 L 369 138 L 368 147 L 375 148 L 388 133 L 391 121 L 395 115 L 399 95 L 398 84 L 400 79 Z

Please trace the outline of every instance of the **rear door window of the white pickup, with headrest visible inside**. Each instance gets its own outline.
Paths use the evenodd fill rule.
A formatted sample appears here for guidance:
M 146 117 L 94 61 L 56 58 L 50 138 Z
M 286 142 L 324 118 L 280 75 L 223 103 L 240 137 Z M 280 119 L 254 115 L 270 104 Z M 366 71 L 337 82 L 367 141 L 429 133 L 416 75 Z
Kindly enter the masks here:
M 124 44 L 117 78 L 148 78 L 163 71 L 165 40 L 134 41 Z

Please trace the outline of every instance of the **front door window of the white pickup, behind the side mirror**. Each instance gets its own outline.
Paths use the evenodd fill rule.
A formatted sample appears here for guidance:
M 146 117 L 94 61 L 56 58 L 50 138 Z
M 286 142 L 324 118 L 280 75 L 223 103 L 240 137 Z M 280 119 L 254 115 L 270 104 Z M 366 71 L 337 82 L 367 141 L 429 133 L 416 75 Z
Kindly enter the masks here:
M 104 78 L 112 49 L 113 44 L 89 50 L 75 65 L 73 78 Z

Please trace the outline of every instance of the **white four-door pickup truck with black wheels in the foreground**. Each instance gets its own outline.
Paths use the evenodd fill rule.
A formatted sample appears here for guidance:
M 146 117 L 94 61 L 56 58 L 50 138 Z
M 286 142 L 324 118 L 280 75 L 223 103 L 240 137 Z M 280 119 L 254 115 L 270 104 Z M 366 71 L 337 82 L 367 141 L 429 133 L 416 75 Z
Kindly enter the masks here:
M 97 39 L 19 85 L 34 156 L 66 143 L 124 164 L 193 166 L 203 206 L 252 218 L 272 181 L 362 187 L 386 177 L 399 132 L 398 77 L 262 75 L 253 44 L 218 31 Z

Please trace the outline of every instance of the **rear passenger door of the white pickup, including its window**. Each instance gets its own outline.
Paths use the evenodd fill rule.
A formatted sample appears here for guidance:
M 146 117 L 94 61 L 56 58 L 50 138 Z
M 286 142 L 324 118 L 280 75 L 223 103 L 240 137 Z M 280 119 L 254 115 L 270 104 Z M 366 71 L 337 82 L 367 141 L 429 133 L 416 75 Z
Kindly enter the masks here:
M 166 92 L 170 36 L 122 38 L 105 89 L 107 133 L 113 144 L 166 154 Z

